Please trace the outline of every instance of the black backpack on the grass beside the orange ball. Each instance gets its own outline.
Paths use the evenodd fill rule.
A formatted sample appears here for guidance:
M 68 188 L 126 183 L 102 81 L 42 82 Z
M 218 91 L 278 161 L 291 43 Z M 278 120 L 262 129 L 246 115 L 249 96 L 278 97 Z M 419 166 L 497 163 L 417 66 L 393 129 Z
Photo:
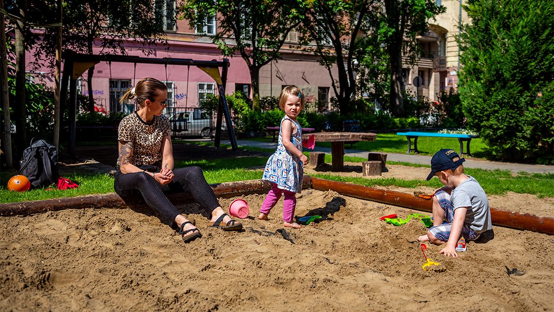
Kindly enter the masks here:
M 19 174 L 29 179 L 31 188 L 58 182 L 58 151 L 43 139 L 31 139 L 30 146 L 23 151 L 20 165 Z

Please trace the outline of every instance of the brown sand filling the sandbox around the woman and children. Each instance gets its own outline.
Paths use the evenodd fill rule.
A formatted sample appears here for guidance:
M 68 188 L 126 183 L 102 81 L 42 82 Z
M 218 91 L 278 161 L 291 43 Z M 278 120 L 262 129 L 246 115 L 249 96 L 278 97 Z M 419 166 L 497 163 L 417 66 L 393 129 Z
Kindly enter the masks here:
M 0 310 L 554 310 L 554 236 L 494 227 L 494 240 L 470 242 L 455 259 L 427 244 L 427 256 L 446 268 L 428 272 L 416 241 L 423 224 L 379 220 L 414 210 L 309 189 L 297 196 L 296 216 L 324 218 L 283 235 L 282 201 L 271 220 L 260 221 L 254 217 L 264 195 L 243 198 L 251 213 L 240 233 L 207 228 L 198 205 L 180 205 L 203 234 L 189 244 L 143 207 L 2 217 Z M 552 198 L 490 201 L 554 212 Z M 505 266 L 526 274 L 508 275 Z

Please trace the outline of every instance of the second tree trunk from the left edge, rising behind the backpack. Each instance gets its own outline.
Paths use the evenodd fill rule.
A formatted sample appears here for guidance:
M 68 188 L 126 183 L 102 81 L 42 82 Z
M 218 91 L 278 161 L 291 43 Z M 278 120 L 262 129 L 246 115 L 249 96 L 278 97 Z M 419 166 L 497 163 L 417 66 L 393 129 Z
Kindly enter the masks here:
M 26 7 L 26 3 L 24 6 Z M 20 13 L 25 18 L 25 9 L 20 9 Z M 18 22 L 19 23 L 19 22 Z M 24 27 L 20 23 L 20 27 Z M 25 96 L 25 36 L 19 31 L 19 27 L 15 28 L 16 32 L 16 103 L 13 104 L 14 112 L 16 113 L 16 145 L 17 158 L 21 158 L 23 150 L 27 147 L 27 127 L 25 119 L 27 119 L 27 99 Z

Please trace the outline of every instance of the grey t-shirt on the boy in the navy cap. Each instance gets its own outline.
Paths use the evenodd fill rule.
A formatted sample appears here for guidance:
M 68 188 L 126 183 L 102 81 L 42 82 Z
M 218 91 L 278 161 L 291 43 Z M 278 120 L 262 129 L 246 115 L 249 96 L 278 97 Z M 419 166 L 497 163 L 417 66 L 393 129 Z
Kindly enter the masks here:
M 487 199 L 485 191 L 479 182 L 470 175 L 468 177 L 469 179 L 452 190 L 450 200 L 454 210 L 468 207 L 464 223 L 468 224 L 475 233 L 479 234 L 493 228 L 490 218 L 489 199 Z

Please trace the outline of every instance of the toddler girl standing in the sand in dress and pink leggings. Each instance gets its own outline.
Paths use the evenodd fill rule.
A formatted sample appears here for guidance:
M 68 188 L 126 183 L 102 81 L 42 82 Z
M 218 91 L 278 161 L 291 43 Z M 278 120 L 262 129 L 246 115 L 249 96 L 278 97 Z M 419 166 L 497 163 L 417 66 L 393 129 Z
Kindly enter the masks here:
M 304 109 L 304 95 L 301 90 L 293 85 L 285 87 L 279 95 L 279 107 L 285 111 L 279 129 L 279 143 L 275 153 L 269 157 L 261 178 L 271 182 L 272 187 L 261 204 L 258 219 L 269 220 L 271 208 L 284 193 L 284 225 L 299 229 L 300 224 L 293 222 L 296 193 L 302 191 L 304 165 L 308 163 L 308 158 L 302 154 L 302 127 L 296 121 L 300 111 Z

